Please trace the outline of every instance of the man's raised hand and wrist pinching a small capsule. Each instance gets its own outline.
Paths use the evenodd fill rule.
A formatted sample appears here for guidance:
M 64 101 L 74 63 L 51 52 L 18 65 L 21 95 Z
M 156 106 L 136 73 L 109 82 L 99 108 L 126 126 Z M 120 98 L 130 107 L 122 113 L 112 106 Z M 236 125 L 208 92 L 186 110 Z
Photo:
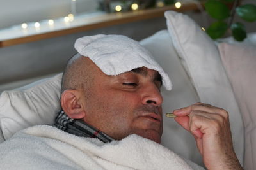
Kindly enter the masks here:
M 233 149 L 227 111 L 196 103 L 173 113 L 175 121 L 195 137 L 207 169 L 242 169 Z

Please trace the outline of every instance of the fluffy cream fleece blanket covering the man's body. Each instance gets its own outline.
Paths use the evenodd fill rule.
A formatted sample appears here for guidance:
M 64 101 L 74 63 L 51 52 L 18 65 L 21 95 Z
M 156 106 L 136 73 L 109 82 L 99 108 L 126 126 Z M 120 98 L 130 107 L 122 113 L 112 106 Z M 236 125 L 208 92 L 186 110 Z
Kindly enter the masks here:
M 132 134 L 120 141 L 38 125 L 0 145 L 0 169 L 203 169 L 162 145 Z

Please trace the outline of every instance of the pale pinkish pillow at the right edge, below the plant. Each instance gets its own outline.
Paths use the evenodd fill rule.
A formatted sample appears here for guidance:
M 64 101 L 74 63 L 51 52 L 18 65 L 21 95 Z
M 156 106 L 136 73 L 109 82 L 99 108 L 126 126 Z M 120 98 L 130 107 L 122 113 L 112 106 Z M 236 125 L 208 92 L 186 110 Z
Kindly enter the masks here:
M 244 169 L 256 169 L 255 45 L 220 43 L 223 66 L 234 89 L 244 122 Z

